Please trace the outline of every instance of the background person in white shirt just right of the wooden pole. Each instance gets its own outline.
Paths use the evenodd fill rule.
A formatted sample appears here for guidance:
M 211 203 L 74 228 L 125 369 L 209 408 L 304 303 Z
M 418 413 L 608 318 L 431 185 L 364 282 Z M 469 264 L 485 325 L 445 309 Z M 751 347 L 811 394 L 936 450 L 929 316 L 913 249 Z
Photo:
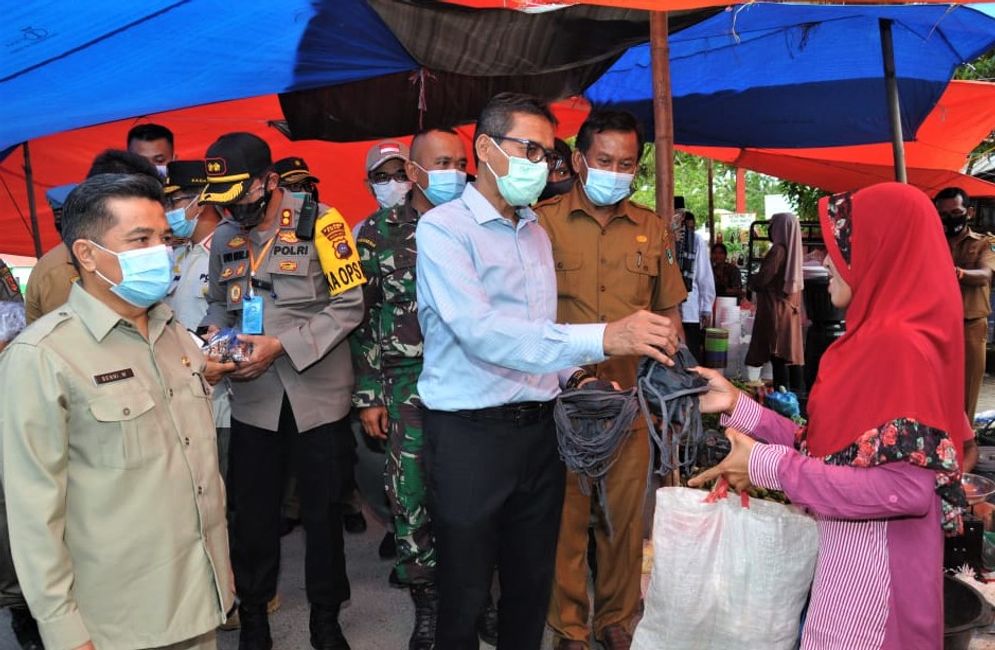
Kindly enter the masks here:
M 705 328 L 712 324 L 712 308 L 715 306 L 715 279 L 712 265 L 705 257 L 708 242 L 695 232 L 695 217 L 690 210 L 677 210 L 671 226 L 684 286 L 688 290 L 687 300 L 681 304 L 684 338 L 691 354 L 696 359 L 703 359 Z

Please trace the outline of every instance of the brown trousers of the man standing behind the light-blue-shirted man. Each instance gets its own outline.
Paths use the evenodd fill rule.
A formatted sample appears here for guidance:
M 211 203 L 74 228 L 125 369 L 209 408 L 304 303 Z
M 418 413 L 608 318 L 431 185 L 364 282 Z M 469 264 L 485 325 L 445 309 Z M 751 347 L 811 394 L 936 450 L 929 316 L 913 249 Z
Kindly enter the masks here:
M 598 525 L 594 530 L 598 573 L 594 581 L 594 635 L 609 625 L 627 630 L 639 611 L 643 558 L 643 502 L 650 461 L 649 437 L 642 422 L 626 441 L 605 480 L 614 537 Z M 580 489 L 577 475 L 567 472 L 563 516 L 556 547 L 556 581 L 549 604 L 549 626 L 561 638 L 587 645 L 591 603 L 587 595 L 588 527 L 597 498 Z M 631 631 L 631 630 L 630 630 Z

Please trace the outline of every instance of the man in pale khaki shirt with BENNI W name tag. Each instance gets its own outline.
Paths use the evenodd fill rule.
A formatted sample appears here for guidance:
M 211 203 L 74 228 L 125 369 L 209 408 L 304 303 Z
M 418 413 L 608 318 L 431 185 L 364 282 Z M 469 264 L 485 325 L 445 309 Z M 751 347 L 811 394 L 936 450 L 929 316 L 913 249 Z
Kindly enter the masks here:
M 160 302 L 162 204 L 143 176 L 76 188 L 80 282 L 0 357 L 14 564 L 49 650 L 212 649 L 233 603 L 204 356 Z

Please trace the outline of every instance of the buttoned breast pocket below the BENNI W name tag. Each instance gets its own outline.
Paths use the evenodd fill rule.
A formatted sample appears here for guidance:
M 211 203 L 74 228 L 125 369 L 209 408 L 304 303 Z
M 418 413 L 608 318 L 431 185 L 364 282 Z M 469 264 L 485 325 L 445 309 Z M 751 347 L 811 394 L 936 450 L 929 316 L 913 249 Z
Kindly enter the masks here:
M 90 400 L 90 414 L 96 420 L 93 436 L 81 441 L 80 451 L 97 467 L 135 469 L 153 456 L 151 440 L 143 449 L 142 432 L 154 435 L 149 418 L 142 416 L 155 407 L 147 391 L 114 393 Z

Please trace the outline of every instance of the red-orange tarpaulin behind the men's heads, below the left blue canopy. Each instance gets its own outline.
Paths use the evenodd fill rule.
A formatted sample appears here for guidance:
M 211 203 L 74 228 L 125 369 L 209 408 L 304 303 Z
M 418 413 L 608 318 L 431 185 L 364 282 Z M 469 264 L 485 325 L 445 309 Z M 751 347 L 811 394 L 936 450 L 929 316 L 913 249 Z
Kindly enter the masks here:
M 574 100 L 559 102 L 554 109 L 560 120 L 559 133 L 569 136 L 580 128 L 588 105 L 583 100 Z M 59 241 L 45 191 L 82 180 L 93 157 L 104 149 L 123 149 L 128 129 L 140 122 L 155 122 L 171 129 L 176 136 L 179 159 L 202 158 L 207 147 L 223 133 L 255 133 L 269 143 L 274 160 L 293 155 L 307 161 L 311 171 L 321 179 L 318 188 L 322 202 L 338 208 L 353 223 L 369 215 L 376 204 L 363 184 L 366 178 L 363 165 L 371 143 L 291 142 L 268 125 L 270 120 L 282 117 L 277 97 L 270 95 L 121 120 L 31 141 L 42 249 L 47 251 Z M 473 127 L 461 127 L 460 132 L 469 151 Z M 410 138 L 401 139 L 410 141 Z M 473 164 L 472 155 L 470 164 Z M 20 148 L 0 163 L 0 253 L 34 254 Z

